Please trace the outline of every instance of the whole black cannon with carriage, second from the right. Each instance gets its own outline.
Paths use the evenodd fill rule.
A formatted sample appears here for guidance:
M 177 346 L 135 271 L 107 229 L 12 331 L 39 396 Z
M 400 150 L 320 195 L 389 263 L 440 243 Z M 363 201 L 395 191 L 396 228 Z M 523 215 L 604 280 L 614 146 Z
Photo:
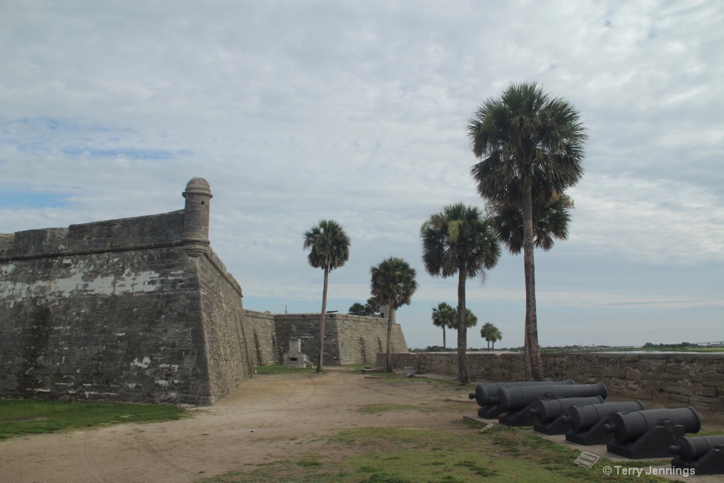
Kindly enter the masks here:
M 678 438 L 699 429 L 702 418 L 691 407 L 613 413 L 603 427 L 615 437 L 607 444 L 608 452 L 631 459 L 664 458 Z

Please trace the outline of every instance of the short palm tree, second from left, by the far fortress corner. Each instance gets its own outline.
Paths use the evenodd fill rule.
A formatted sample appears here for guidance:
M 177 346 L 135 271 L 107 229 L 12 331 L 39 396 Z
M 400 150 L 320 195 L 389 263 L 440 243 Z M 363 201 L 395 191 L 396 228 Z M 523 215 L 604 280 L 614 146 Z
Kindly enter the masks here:
M 390 257 L 370 268 L 370 292 L 379 305 L 390 304 L 387 314 L 387 372 L 392 372 L 392 324 L 395 311 L 403 305 L 410 305 L 417 290 L 417 272 L 408 262 Z

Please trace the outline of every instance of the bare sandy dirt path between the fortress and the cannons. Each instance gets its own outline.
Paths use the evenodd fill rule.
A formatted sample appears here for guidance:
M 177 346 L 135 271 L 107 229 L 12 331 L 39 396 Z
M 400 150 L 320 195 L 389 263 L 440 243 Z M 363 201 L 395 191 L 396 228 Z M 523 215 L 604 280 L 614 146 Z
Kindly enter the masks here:
M 0 442 L 0 482 L 185 483 L 295 455 L 334 458 L 341 454 L 330 454 L 324 437 L 345 428 L 465 428 L 463 416 L 475 416 L 477 406 L 455 388 L 424 382 L 391 385 L 346 369 L 319 376 L 257 376 L 216 406 L 194 409 L 193 418 Z M 375 403 L 444 409 L 357 411 Z M 696 482 L 709 478 L 697 477 Z M 711 481 L 724 481 L 715 478 Z

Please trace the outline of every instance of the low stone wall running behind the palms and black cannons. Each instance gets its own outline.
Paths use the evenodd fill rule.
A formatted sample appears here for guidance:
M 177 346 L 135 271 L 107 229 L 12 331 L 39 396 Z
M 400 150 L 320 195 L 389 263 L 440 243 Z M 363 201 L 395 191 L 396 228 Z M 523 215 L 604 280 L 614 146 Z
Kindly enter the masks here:
M 392 363 L 399 369 L 414 367 L 417 374 L 458 374 L 457 353 L 395 353 Z M 520 353 L 473 352 L 468 353 L 467 363 L 472 381 L 525 380 Z M 384 354 L 377 355 L 377 364 L 384 364 Z M 724 411 L 724 353 L 545 354 L 544 366 L 552 379 L 604 382 L 613 398 Z

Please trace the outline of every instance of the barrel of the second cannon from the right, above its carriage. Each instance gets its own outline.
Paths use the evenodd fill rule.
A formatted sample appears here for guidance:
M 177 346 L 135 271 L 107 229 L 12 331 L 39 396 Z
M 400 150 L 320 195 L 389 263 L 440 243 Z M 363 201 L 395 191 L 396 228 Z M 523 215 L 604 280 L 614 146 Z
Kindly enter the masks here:
M 613 413 L 610 417 L 611 422 L 605 424 L 603 430 L 613 433 L 620 444 L 638 440 L 649 428 L 664 421 L 683 426 L 684 432 L 687 433 L 699 432 L 699 429 L 702 429 L 702 417 L 691 406 L 676 409 L 649 409 L 633 413 Z

